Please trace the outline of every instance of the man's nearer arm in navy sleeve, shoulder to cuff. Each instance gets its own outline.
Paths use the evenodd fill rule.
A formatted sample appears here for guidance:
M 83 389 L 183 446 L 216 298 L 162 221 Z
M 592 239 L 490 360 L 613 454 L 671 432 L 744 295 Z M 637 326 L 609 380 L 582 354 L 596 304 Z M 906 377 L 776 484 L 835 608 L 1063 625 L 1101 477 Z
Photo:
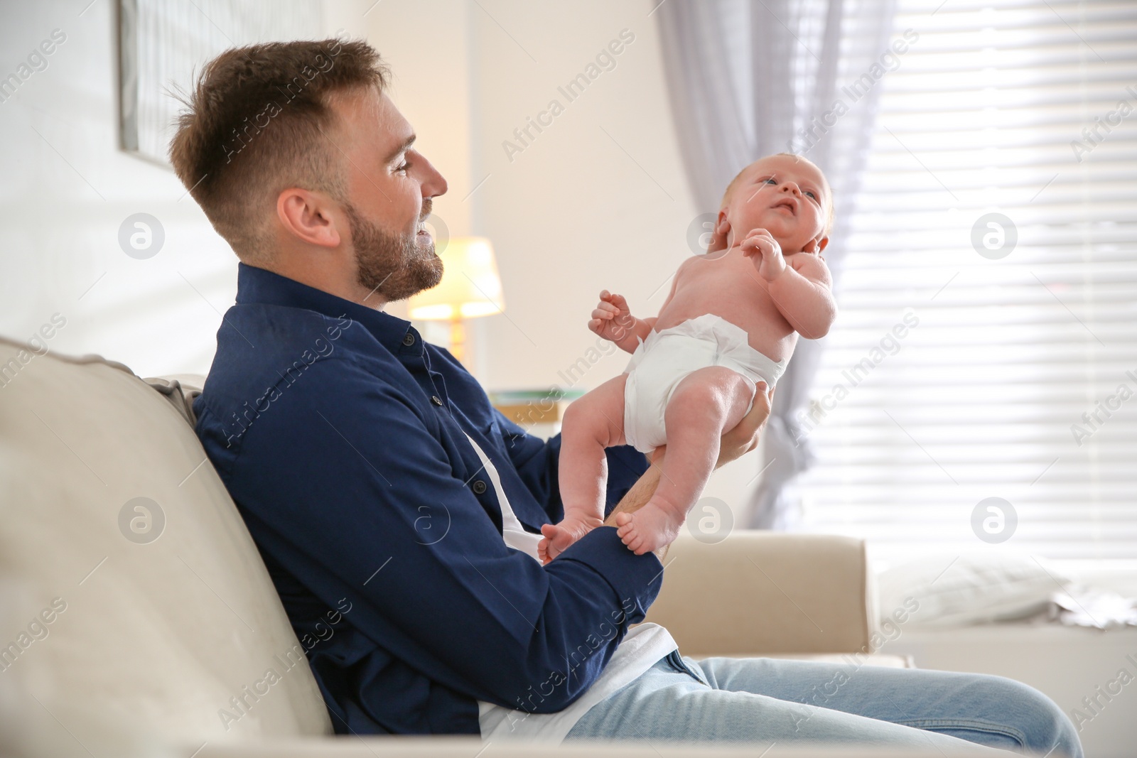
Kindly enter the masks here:
M 642 619 L 661 566 L 614 528 L 543 567 L 506 547 L 475 497 L 491 490 L 474 486 L 473 466 L 470 481 L 456 475 L 466 440 L 439 436 L 448 411 L 412 402 L 421 390 L 400 382 L 317 361 L 246 432 L 241 474 L 226 484 L 272 532 L 275 558 L 329 607 L 347 598 L 350 624 L 391 657 L 514 708 L 545 683 L 525 708 L 561 710 Z

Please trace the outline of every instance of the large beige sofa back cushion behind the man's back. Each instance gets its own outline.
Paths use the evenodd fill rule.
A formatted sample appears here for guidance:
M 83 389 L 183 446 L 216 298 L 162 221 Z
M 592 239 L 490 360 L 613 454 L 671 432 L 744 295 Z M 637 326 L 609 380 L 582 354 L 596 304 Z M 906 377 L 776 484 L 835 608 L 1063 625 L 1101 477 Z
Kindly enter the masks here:
M 28 351 L 0 340 L 0 753 L 330 733 L 175 403 L 124 366 Z

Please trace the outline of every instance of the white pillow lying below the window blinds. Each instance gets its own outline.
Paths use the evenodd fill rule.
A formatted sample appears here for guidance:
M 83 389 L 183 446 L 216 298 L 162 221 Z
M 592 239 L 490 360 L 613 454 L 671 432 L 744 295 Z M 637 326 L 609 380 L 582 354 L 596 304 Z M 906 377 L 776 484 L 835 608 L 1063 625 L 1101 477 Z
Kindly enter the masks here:
M 878 577 L 881 618 L 897 608 L 913 626 L 966 626 L 1044 610 L 1069 577 L 1034 556 L 944 553 L 889 567 Z M 912 609 L 913 600 L 919 603 Z

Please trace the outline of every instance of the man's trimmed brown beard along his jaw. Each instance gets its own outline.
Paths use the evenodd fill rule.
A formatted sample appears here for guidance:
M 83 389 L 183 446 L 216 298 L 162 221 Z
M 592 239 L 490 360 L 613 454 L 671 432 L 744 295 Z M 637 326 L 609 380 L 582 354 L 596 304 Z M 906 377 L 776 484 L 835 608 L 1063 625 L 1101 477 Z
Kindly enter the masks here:
M 421 244 L 417 234 L 407 239 L 385 232 L 360 216 L 351 203 L 343 211 L 356 252 L 356 281 L 372 294 L 388 302 L 406 300 L 442 281 L 442 259 L 434 255 L 433 239 Z M 430 199 L 423 200 L 420 220 L 425 220 L 430 211 Z

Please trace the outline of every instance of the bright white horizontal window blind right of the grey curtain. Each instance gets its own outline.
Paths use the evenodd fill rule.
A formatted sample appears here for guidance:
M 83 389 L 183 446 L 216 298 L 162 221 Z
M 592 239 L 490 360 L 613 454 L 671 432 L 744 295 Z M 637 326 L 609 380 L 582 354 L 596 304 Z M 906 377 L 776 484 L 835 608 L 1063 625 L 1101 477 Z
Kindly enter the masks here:
M 833 232 L 802 526 L 1137 558 L 1137 3 L 937 5 Z

